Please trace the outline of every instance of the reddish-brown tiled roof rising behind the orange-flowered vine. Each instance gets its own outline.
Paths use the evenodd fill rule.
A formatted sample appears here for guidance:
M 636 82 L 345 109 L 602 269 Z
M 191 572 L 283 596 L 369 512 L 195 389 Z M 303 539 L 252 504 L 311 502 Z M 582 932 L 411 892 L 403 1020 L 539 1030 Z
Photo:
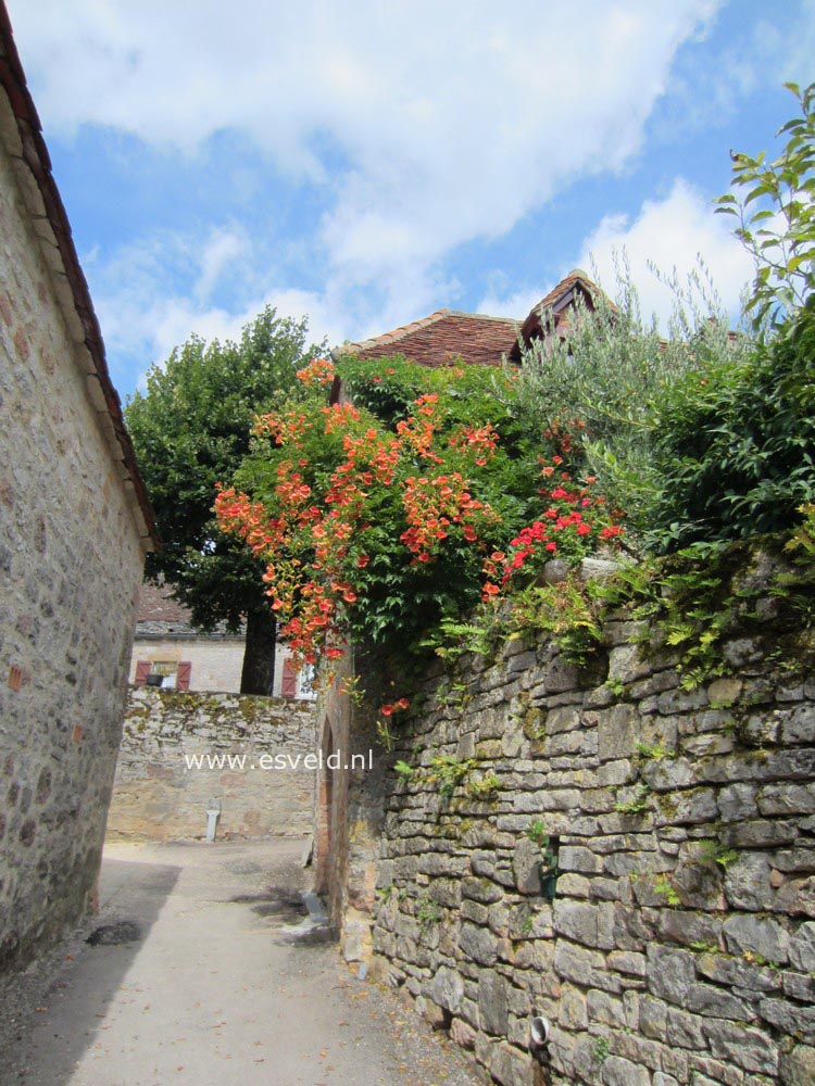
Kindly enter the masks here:
M 498 366 L 512 350 L 517 327 L 509 317 L 437 310 L 383 336 L 346 343 L 339 352 L 359 358 L 403 354 L 422 366 L 446 366 L 459 357 L 468 365 Z

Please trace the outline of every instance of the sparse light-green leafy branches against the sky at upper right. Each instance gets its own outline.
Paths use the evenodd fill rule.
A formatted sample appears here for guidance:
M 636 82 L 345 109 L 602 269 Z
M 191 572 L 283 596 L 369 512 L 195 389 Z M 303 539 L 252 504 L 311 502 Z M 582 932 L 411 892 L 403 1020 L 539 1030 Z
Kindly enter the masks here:
M 734 185 L 741 198 L 719 197 L 717 212 L 735 215 L 739 238 L 756 263 L 748 312 L 756 328 L 778 329 L 806 304 L 815 286 L 815 84 L 803 91 L 786 84 L 801 115 L 782 125 L 783 151 L 773 162 L 732 155 Z

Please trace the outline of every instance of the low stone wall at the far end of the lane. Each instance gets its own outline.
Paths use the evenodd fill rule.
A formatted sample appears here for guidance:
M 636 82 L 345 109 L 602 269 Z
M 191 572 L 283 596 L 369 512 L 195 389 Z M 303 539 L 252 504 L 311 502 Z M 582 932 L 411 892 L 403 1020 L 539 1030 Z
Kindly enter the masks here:
M 218 838 L 310 833 L 314 720 L 310 702 L 131 687 L 109 836 L 204 837 L 212 799 Z

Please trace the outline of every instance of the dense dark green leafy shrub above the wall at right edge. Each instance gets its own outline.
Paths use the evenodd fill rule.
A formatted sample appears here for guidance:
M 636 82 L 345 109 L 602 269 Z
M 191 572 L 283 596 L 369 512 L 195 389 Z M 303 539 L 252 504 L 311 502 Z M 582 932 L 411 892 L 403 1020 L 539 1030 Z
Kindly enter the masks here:
M 815 311 L 747 357 L 666 391 L 653 432 L 651 545 L 786 531 L 815 498 Z

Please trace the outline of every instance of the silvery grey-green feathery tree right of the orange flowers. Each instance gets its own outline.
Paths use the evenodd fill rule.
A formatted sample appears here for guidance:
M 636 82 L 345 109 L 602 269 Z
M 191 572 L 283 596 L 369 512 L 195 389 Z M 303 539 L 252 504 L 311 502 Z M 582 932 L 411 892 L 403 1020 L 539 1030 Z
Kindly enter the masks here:
M 667 337 L 642 320 L 630 269 L 623 264 L 616 302 L 601 291 L 590 302 L 578 294 L 565 338 L 537 341 L 523 355 L 516 412 L 529 427 L 568 420 L 580 428 L 573 467 L 598 477 L 629 528 L 647 521 L 660 488 L 651 433 L 665 391 L 701 359 L 741 352 L 703 273 L 694 273 L 687 288 L 670 283 L 676 312 Z

